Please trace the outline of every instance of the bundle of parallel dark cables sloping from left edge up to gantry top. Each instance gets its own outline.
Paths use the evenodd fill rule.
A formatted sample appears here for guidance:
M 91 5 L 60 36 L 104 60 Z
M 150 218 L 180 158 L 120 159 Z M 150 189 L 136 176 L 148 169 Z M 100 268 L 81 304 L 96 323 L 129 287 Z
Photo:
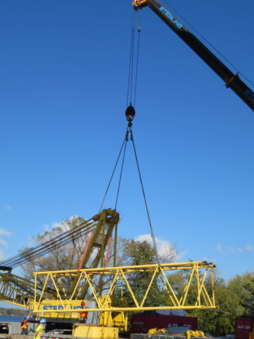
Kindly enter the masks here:
M 20 261 L 29 261 L 30 258 L 35 255 L 35 252 L 38 254 L 39 253 L 47 253 L 50 252 L 52 249 L 52 245 L 53 244 L 57 244 L 59 243 L 59 246 L 68 242 L 71 242 L 74 239 L 77 239 L 78 237 L 80 237 L 80 234 L 82 234 L 82 232 L 84 232 L 84 230 L 86 230 L 86 227 L 89 227 L 90 225 L 92 225 L 92 227 L 94 227 L 94 221 L 92 220 L 92 218 L 90 220 L 85 220 L 85 222 L 82 222 L 80 225 L 76 226 L 74 229 L 71 230 L 67 230 L 66 232 L 63 232 L 60 236 L 56 236 L 52 239 L 49 239 L 47 242 L 44 242 L 42 244 L 39 244 L 35 247 L 32 247 L 32 249 L 28 249 L 26 251 L 24 251 L 21 254 L 18 254 L 16 256 L 13 256 L 12 258 L 9 258 L 6 261 L 1 261 L 0 266 L 11 266 L 11 265 L 17 265 L 18 262 Z M 68 237 L 70 237 L 71 239 L 68 241 Z M 62 242 L 63 239 L 65 239 L 64 242 Z M 58 240 L 56 242 L 56 239 Z M 48 250 L 49 249 L 49 250 Z

